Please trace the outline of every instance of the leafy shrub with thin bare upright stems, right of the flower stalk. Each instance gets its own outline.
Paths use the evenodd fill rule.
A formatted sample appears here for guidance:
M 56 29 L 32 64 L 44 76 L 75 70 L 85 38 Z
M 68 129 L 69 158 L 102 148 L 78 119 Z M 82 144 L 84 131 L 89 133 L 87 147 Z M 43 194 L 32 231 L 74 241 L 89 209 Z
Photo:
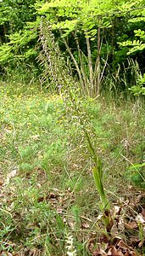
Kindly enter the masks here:
M 139 36 L 143 38 L 143 32 L 137 30 L 138 25 L 135 26 L 135 22 L 132 25 L 131 19 L 137 18 L 140 13 L 143 15 L 142 9 L 143 1 L 125 3 L 81 1 L 77 4 L 75 1 L 50 1 L 42 3 L 38 13 L 46 15 L 55 33 L 61 31 L 63 40 L 60 43 L 59 38 L 56 39 L 59 44 L 62 45 L 62 41 L 65 44 L 73 62 L 72 67 L 74 69 L 75 66 L 80 79 L 82 93 L 85 91 L 88 94 L 89 91 L 90 96 L 96 96 L 99 94 L 96 90 L 99 91 L 100 84 L 104 90 L 107 87 L 109 90 L 114 90 L 115 86 L 118 86 L 119 90 L 130 87 L 132 74 L 128 67 L 127 55 L 134 53 L 133 57 L 137 56 L 144 49 L 144 44 L 137 38 Z M 132 37 L 133 31 L 136 33 L 135 38 Z M 80 37 L 83 38 L 83 44 Z M 90 42 L 86 43 L 85 38 Z M 98 49 L 98 39 L 102 42 L 100 49 Z M 88 44 L 90 44 L 90 53 Z M 142 65 L 140 58 L 138 62 Z M 120 68 L 120 79 L 116 80 L 115 73 L 117 76 L 118 68 Z M 125 77 L 121 75 L 124 69 L 127 70 Z M 106 82 L 108 79 L 112 80 L 111 86 Z

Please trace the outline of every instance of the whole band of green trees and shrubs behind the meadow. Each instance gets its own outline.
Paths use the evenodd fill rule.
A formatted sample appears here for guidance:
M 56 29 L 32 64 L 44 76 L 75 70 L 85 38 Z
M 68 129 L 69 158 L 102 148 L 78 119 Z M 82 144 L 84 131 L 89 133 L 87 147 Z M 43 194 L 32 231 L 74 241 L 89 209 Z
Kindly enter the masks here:
M 114 73 L 118 72 L 118 63 L 121 71 L 124 69 L 123 62 L 127 68 L 127 55 L 137 58 L 139 66 L 142 68 L 144 55 L 142 54 L 144 50 L 143 1 L 114 3 L 113 0 L 108 2 L 92 0 L 88 3 L 88 1 L 82 0 L 78 3 L 75 0 L 69 2 L 31 0 L 29 3 L 26 1 L 22 3 L 18 0 L 5 0 L 1 1 L 0 10 L 2 73 L 8 73 L 10 70 L 13 73 L 18 61 L 22 62 L 24 66 L 25 64 L 34 66 L 37 69 L 37 78 L 38 73 L 42 73 L 42 67 L 37 67 L 36 63 L 37 55 L 41 50 L 37 46 L 40 16 L 45 16 L 45 19 L 49 20 L 52 25 L 55 41 L 60 45 L 65 60 L 71 65 L 73 75 L 77 73 L 84 94 L 88 94 L 88 92 L 90 95 L 97 94 L 95 90 L 97 90 L 96 87 L 99 87 L 98 84 L 101 84 L 100 89 L 102 90 L 107 87 L 109 90 L 110 88 L 113 90 L 116 84 L 120 90 L 124 90 L 126 85 L 124 86 L 124 83 L 121 82 L 122 78 L 115 82 Z M 102 42 L 100 49 L 98 49 L 99 37 Z M 90 57 L 88 57 L 86 39 L 90 44 Z M 72 55 L 68 56 L 70 53 L 68 49 L 66 50 L 64 40 L 74 59 L 72 59 Z M 142 58 L 140 58 L 141 54 Z M 140 55 L 139 58 L 138 55 Z M 100 64 L 98 64 L 98 60 Z M 130 76 L 131 74 L 128 73 L 128 77 Z M 112 80 L 111 86 L 106 82 L 108 79 Z M 130 87 L 131 81 L 128 80 L 130 79 L 126 79 L 127 86 Z M 50 87 L 53 90 L 55 84 L 52 83 Z

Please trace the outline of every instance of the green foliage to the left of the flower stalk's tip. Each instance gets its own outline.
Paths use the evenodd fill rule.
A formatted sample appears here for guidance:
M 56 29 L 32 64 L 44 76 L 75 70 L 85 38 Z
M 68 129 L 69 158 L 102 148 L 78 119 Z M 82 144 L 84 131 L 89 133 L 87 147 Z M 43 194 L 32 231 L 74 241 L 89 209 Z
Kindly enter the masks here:
M 34 3 L 36 1 L 11 1 L 0 3 L 0 65 L 7 73 L 18 61 L 36 63 L 37 25 Z

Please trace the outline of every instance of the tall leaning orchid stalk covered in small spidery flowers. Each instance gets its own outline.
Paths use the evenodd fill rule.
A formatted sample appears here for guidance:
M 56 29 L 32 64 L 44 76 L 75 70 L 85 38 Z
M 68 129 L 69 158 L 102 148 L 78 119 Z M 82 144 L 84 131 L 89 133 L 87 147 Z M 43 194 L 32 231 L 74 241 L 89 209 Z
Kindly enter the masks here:
M 59 51 L 58 44 L 55 43 L 51 26 L 47 24 L 45 20 L 42 21 L 40 26 L 40 42 L 42 44 L 42 52 L 39 55 L 39 61 L 45 67 L 43 78 L 51 79 L 51 82 L 55 84 L 55 87 L 59 90 L 64 99 L 65 107 L 68 111 L 72 111 L 75 114 L 81 125 L 81 131 L 86 139 L 87 148 L 93 161 L 92 173 L 96 188 L 100 195 L 100 209 L 103 212 L 103 222 L 106 230 L 111 229 L 110 222 L 112 218 L 110 215 L 110 204 L 103 188 L 103 167 L 102 161 L 96 153 L 93 142 L 92 132 L 88 130 L 89 120 L 87 120 L 86 113 L 81 108 L 81 104 L 76 96 L 75 90 L 79 88 L 74 78 L 70 76 L 69 68 L 66 67 L 64 59 Z M 71 105 L 68 108 L 67 102 Z

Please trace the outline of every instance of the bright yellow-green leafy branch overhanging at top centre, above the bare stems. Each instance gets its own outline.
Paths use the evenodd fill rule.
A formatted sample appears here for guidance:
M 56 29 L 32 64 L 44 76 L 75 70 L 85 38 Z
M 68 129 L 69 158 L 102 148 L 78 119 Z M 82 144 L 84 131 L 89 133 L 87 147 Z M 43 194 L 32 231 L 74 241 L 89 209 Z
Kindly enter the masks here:
M 99 9 L 97 8 L 99 7 Z M 108 3 L 103 3 L 100 1 L 51 1 L 49 3 L 42 4 L 42 8 L 38 10 L 40 15 L 47 14 L 47 16 L 52 17 L 51 12 L 53 13 L 53 19 L 57 21 L 57 24 L 54 24 L 54 28 L 62 28 L 67 34 L 74 31 L 75 29 L 87 31 L 88 36 L 95 36 L 97 29 L 94 29 L 94 26 L 98 24 L 99 26 L 109 27 L 110 22 L 104 17 L 102 24 L 98 23 L 98 15 L 104 15 L 108 11 L 114 10 L 113 1 L 108 1 Z M 96 16 L 94 19 L 92 16 Z M 62 19 L 65 20 L 62 20 Z M 53 21 L 50 20 L 50 21 Z

